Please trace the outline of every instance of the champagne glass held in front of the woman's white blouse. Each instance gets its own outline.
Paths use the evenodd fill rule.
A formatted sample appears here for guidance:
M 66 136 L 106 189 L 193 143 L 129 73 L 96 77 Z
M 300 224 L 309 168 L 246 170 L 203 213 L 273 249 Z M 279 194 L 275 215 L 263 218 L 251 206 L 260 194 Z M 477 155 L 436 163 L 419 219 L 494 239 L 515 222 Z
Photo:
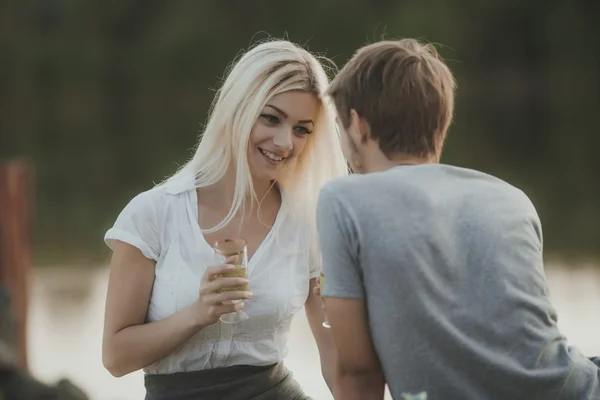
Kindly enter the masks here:
M 230 262 L 235 266 L 232 271 L 224 272 L 219 274 L 219 277 L 223 278 L 245 278 L 248 279 L 248 250 L 246 247 L 246 241 L 240 238 L 218 240 L 214 244 L 215 256 L 221 264 L 224 264 L 227 259 L 232 259 Z M 223 289 L 219 289 L 219 293 L 232 292 L 232 291 L 248 291 L 248 285 L 230 286 Z M 231 300 L 226 303 L 236 304 L 241 303 L 243 300 Z M 235 324 L 247 320 L 248 314 L 242 310 L 223 314 L 219 318 L 221 322 L 226 324 Z

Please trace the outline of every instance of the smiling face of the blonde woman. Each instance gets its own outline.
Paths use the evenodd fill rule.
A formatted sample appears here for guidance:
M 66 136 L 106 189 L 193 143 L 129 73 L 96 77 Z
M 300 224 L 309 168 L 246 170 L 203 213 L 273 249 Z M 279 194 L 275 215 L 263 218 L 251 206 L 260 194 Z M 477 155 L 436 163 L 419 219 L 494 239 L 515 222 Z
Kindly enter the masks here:
M 252 127 L 248 160 L 255 179 L 275 180 L 304 149 L 315 127 L 319 100 L 289 91 L 270 99 Z

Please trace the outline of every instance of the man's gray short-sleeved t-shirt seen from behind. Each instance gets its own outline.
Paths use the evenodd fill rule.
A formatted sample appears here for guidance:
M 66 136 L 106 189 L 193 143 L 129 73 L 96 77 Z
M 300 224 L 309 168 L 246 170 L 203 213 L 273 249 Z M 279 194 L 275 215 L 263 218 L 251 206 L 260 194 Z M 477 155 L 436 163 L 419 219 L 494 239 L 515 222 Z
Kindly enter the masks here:
M 394 398 L 600 399 L 600 369 L 557 328 L 522 191 L 469 169 L 398 166 L 327 184 L 318 224 L 323 294 L 365 300 Z

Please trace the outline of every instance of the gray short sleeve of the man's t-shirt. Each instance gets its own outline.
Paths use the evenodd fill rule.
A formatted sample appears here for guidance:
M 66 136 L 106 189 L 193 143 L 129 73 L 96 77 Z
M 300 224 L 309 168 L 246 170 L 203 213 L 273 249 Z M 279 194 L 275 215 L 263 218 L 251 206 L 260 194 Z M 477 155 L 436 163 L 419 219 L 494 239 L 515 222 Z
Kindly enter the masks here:
M 317 226 L 325 273 L 323 296 L 364 298 L 356 220 L 335 186 L 326 185 L 319 194 Z

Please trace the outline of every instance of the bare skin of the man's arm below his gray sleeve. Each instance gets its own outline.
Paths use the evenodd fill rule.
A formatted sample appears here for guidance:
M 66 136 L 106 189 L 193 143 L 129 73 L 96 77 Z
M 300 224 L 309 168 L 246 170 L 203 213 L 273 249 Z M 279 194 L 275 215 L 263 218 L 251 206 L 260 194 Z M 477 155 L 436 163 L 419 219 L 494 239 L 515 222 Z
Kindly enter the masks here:
M 385 379 L 371 341 L 364 301 L 325 297 L 325 309 L 338 349 L 334 397 L 383 399 Z

